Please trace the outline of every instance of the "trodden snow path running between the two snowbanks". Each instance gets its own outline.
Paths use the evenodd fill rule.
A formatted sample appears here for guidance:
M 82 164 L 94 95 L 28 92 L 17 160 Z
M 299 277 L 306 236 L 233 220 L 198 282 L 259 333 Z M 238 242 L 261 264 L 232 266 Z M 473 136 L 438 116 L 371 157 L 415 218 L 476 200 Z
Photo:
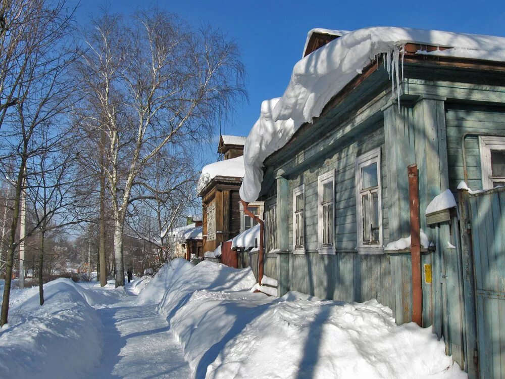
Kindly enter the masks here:
M 134 296 L 98 307 L 104 325 L 100 365 L 89 378 L 186 378 L 189 366 L 182 347 L 155 305 L 137 305 Z

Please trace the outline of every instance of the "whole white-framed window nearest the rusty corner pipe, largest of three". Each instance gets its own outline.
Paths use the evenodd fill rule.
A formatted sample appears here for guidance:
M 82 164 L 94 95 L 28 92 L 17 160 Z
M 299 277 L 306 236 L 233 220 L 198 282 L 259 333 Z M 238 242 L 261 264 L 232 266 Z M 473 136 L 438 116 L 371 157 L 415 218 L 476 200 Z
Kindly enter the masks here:
M 358 251 L 381 253 L 382 196 L 380 149 L 374 149 L 356 160 L 356 219 Z

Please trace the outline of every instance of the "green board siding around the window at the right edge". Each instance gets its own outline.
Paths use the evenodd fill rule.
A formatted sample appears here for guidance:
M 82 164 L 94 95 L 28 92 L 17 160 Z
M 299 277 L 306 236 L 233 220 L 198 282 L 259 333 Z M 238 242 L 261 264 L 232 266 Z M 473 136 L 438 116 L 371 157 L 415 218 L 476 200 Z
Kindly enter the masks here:
M 505 134 L 505 110 L 484 109 L 470 106 L 448 108 L 445 112 L 447 126 L 447 158 L 449 166 L 449 188 L 456 191 L 464 180 L 463 150 L 461 138 L 465 133 L 487 132 Z M 482 189 L 479 138 L 474 135 L 465 138 L 468 186 Z

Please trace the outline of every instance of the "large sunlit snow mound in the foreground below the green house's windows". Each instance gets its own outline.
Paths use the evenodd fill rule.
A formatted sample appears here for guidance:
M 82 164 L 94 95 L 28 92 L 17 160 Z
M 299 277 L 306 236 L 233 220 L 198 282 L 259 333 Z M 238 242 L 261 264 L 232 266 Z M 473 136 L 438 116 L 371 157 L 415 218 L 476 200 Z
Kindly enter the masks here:
M 255 316 L 221 350 L 207 378 L 466 377 L 431 327 L 397 326 L 375 300 L 279 299 Z

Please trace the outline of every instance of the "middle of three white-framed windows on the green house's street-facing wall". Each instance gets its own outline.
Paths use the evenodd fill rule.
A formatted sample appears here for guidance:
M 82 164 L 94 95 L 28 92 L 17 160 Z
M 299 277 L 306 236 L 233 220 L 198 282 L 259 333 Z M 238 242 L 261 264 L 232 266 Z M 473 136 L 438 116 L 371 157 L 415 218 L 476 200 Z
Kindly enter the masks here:
M 319 253 L 334 254 L 335 170 L 318 177 Z

